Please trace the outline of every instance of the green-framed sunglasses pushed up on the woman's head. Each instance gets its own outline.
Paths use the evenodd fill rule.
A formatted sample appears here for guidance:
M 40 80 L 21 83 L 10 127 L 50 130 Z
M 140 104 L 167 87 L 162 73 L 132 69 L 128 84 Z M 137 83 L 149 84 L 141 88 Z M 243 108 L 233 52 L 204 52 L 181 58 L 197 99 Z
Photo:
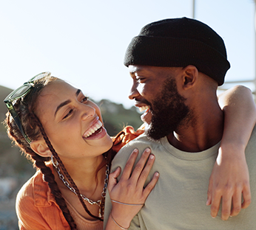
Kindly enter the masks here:
M 31 141 L 30 141 L 30 139 L 28 139 L 26 133 L 24 132 L 24 129 L 21 124 L 21 119 L 19 118 L 18 113 L 16 112 L 15 108 L 13 107 L 13 104 L 16 102 L 16 100 L 18 100 L 22 97 L 25 97 L 30 92 L 30 90 L 34 86 L 34 82 L 36 80 L 39 80 L 43 77 L 48 77 L 48 76 L 50 76 L 50 74 L 51 74 L 50 72 L 43 72 L 41 74 L 37 74 L 35 77 L 32 77 L 30 80 L 28 80 L 22 86 L 18 87 L 16 90 L 12 91 L 4 99 L 4 103 L 7 106 L 8 111 L 13 116 L 13 119 L 16 122 L 16 125 L 18 126 L 18 129 L 21 131 L 22 136 L 24 136 L 24 139 L 26 139 L 28 144 L 30 144 Z

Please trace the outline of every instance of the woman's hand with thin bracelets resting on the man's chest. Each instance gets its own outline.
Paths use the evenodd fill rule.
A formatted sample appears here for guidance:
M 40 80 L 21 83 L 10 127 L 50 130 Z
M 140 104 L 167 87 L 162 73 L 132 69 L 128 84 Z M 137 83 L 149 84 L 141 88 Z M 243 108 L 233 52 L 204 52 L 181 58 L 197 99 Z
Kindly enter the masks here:
M 120 167 L 118 167 L 115 172 L 110 173 L 108 189 L 112 201 L 112 211 L 108 220 L 108 225 L 112 224 L 116 229 L 118 229 L 118 225 L 122 226 L 124 229 L 129 228 L 129 223 L 132 218 L 144 206 L 147 196 L 155 187 L 159 178 L 159 173 L 155 172 L 152 181 L 150 181 L 144 188 L 146 178 L 155 161 L 155 156 L 150 153 L 151 150 L 146 148 L 132 171 L 138 156 L 138 150 L 133 150 L 124 167 L 124 172 L 121 175 L 120 181 L 117 182 L 118 175 L 121 173 Z M 114 227 L 110 229 L 113 228 Z

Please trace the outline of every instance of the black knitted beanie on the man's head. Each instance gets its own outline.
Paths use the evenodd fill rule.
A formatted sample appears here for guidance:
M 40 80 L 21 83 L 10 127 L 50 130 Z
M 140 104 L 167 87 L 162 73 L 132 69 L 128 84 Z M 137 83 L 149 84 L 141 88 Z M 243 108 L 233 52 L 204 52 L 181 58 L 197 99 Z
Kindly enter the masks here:
M 190 18 L 147 24 L 127 48 L 124 65 L 185 67 L 193 65 L 221 86 L 230 68 L 223 39 L 209 26 Z

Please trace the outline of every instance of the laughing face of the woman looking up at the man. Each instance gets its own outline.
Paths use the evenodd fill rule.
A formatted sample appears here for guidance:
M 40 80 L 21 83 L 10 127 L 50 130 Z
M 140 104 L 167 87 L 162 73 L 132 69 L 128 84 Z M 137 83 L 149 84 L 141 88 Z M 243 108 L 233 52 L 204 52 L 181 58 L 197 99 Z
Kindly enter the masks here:
M 61 158 L 99 156 L 112 147 L 98 106 L 63 80 L 41 91 L 36 115 Z

